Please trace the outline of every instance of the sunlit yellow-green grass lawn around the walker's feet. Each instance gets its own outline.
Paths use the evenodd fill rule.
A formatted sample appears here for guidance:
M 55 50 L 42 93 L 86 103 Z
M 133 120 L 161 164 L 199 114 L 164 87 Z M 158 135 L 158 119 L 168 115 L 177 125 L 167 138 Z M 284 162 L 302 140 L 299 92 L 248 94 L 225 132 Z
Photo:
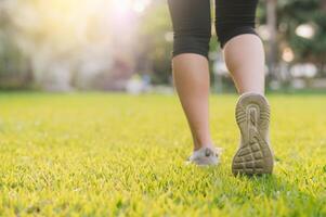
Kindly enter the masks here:
M 270 95 L 271 177 L 235 178 L 235 95 L 211 99 L 217 168 L 174 95 L 0 94 L 0 216 L 326 216 L 326 95 Z

